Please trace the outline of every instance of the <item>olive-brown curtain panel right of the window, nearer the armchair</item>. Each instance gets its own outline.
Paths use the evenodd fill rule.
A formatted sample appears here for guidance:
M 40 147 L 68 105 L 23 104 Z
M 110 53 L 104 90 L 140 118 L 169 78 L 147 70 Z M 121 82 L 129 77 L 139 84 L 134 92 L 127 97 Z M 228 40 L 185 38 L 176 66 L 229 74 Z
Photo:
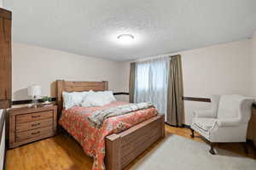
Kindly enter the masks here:
M 171 56 L 167 94 L 166 122 L 177 127 L 183 125 L 183 72 L 181 55 Z

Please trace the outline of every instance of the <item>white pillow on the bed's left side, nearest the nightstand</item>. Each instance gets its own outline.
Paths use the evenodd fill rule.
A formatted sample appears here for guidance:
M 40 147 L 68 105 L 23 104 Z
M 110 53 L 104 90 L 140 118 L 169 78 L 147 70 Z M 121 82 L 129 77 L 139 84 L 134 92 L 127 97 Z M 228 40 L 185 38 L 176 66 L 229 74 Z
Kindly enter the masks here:
M 80 105 L 84 99 L 84 97 L 88 94 L 89 92 L 62 92 L 62 97 L 63 97 L 63 107 L 65 109 L 72 108 L 75 105 Z

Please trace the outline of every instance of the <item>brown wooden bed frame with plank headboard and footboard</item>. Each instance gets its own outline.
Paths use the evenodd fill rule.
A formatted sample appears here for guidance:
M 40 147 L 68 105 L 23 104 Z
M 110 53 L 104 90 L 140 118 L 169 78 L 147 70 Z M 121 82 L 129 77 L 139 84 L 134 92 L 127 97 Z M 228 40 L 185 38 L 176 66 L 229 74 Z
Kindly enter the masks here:
M 56 81 L 56 102 L 58 105 L 58 117 L 62 111 L 62 92 L 79 91 L 103 91 L 108 90 L 108 82 L 67 82 Z M 137 156 L 147 150 L 158 139 L 165 137 L 164 116 L 154 116 L 145 122 L 141 122 L 124 132 L 113 133 L 106 137 L 105 163 L 108 170 L 121 170 L 125 168 Z

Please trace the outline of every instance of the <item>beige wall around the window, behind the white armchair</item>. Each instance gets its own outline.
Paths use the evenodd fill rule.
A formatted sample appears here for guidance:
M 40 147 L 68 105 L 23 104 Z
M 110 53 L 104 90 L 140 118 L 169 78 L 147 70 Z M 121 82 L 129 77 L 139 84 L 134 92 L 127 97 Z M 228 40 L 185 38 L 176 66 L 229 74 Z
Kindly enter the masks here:
M 211 94 L 250 95 L 250 43 L 250 40 L 244 40 L 177 53 L 182 55 L 184 96 L 209 98 Z M 129 63 L 125 65 L 125 77 L 129 79 Z M 126 89 L 128 85 L 126 82 Z M 186 124 L 189 124 L 193 111 L 211 106 L 194 101 L 185 101 L 184 105 Z

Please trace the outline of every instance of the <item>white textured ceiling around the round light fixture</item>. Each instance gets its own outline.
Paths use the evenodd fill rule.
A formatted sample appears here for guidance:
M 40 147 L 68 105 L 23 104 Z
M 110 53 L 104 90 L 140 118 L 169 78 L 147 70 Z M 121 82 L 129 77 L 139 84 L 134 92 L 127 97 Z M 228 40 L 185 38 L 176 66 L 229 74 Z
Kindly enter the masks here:
M 131 60 L 251 37 L 256 0 L 3 0 L 15 42 Z M 117 42 L 134 35 L 129 46 Z

